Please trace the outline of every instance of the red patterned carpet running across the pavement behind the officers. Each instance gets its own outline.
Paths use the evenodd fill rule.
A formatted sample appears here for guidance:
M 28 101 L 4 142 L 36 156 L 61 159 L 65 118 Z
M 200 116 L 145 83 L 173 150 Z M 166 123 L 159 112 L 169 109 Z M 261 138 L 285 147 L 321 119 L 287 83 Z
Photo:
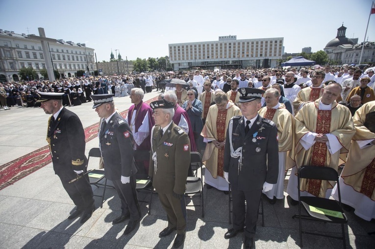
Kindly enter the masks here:
M 156 100 L 154 97 L 146 103 L 150 104 Z M 121 113 L 122 116 L 126 116 L 128 110 Z M 99 122 L 85 128 L 85 140 L 86 142 L 94 139 L 98 136 Z M 47 142 L 46 142 L 47 143 Z M 51 162 L 51 156 L 48 146 L 33 151 L 21 158 L 17 158 L 13 161 L 5 163 L 0 166 L 0 190 L 13 184 L 14 182 L 24 178 L 32 172 L 46 166 Z

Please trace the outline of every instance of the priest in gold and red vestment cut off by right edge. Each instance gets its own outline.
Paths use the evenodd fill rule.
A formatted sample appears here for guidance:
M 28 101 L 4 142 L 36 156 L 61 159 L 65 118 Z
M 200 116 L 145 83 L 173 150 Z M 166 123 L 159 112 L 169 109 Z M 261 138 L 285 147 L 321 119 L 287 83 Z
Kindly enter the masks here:
M 340 176 L 341 201 L 366 221 L 375 219 L 375 101 L 364 104 L 353 116 L 355 134 Z M 338 200 L 337 185 L 332 196 Z

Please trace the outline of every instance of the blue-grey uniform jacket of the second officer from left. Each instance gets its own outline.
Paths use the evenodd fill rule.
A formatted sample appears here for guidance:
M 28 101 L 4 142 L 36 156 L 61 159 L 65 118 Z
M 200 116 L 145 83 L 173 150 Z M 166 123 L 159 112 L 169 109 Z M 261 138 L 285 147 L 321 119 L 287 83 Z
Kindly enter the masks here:
M 100 129 L 100 150 L 104 174 L 108 180 L 120 180 L 137 173 L 133 155 L 133 134 L 124 118 L 115 113 L 104 129 Z

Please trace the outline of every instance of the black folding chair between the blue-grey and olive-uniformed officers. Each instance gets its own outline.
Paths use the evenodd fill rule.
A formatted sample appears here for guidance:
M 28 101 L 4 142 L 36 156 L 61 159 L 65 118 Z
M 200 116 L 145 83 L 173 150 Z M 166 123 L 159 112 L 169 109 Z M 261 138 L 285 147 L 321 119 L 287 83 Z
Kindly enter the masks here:
M 135 150 L 134 151 L 134 161 L 135 163 L 137 161 L 145 161 L 145 160 L 150 160 L 150 151 L 145 151 L 145 150 Z M 144 165 L 137 165 L 138 168 L 144 168 Z M 151 201 L 152 201 L 152 193 L 153 193 L 153 187 L 152 187 L 152 182 L 149 179 L 148 174 L 144 173 L 137 173 L 135 174 L 136 181 L 137 181 L 137 186 L 136 189 L 138 192 L 145 192 L 145 193 L 150 193 L 150 198 L 149 201 L 139 201 L 141 203 L 148 203 L 149 204 L 149 211 L 148 214 L 151 212 Z

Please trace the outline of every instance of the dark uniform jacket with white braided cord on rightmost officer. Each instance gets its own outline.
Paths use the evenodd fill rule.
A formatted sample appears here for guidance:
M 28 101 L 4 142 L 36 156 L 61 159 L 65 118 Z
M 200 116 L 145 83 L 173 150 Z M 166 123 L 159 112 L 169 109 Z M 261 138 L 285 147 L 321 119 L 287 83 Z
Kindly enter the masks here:
M 234 189 L 249 191 L 261 189 L 263 183 L 275 184 L 278 175 L 278 141 L 275 123 L 258 115 L 245 135 L 243 116 L 235 116 L 233 130 L 228 128 L 225 141 L 224 171 Z M 232 133 L 234 151 L 242 146 L 242 164 L 239 157 L 230 155 L 229 133 Z

